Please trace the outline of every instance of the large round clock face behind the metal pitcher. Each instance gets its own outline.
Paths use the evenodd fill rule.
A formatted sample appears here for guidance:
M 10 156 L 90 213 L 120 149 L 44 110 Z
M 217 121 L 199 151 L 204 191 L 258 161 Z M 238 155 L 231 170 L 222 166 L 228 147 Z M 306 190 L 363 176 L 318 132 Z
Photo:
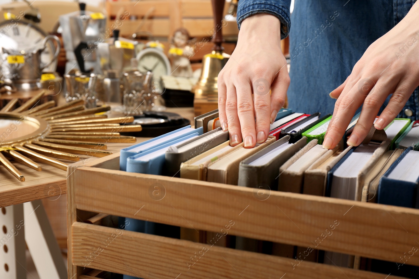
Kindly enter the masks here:
M 7 20 L 0 23 L 0 48 L 11 49 L 17 52 L 26 52 L 42 49 L 42 41 L 47 35 L 38 27 L 23 20 Z M 54 56 L 55 46 L 52 41 L 47 42 L 47 47 L 41 53 L 41 61 L 47 64 Z M 55 72 L 58 61 L 43 70 Z

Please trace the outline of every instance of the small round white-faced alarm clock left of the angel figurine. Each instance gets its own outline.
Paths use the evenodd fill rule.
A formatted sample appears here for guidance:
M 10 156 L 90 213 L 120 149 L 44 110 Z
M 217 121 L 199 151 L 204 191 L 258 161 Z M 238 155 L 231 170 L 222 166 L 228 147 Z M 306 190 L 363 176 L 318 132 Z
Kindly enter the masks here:
M 137 54 L 137 68 L 140 72 L 153 72 L 153 89 L 163 92 L 161 77 L 171 74 L 170 61 L 160 48 L 149 47 Z

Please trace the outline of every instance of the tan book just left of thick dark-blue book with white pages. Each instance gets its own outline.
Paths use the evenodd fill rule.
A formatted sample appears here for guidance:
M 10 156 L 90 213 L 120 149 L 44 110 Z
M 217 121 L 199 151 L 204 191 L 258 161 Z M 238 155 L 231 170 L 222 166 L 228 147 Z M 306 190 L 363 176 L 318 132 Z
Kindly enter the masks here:
M 350 149 L 351 147 L 347 147 L 341 150 L 339 143 L 309 166 L 304 172 L 303 194 L 324 196 L 327 173 Z

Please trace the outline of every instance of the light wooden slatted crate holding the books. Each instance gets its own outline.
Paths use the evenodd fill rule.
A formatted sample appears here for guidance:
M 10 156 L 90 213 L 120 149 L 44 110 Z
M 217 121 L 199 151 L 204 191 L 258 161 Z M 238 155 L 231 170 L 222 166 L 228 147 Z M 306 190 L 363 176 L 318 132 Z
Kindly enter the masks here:
M 277 191 L 265 199 L 252 188 L 119 171 L 119 154 L 70 165 L 67 187 L 68 278 L 91 278 L 82 276 L 91 269 L 145 279 L 400 278 L 83 222 L 97 213 L 303 247 L 323 238 L 317 249 L 393 262 L 419 245 L 417 209 Z M 407 264 L 419 266 L 418 255 Z

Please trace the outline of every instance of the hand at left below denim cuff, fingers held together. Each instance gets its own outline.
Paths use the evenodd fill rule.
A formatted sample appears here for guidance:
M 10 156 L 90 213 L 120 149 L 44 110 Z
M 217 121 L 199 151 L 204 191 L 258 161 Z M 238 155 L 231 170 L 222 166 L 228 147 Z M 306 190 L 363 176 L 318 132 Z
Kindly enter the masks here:
M 278 18 L 269 14 L 243 20 L 237 46 L 218 75 L 220 123 L 229 131 L 231 146 L 242 139 L 248 148 L 266 141 L 269 124 L 284 105 L 290 77 L 280 27 Z

